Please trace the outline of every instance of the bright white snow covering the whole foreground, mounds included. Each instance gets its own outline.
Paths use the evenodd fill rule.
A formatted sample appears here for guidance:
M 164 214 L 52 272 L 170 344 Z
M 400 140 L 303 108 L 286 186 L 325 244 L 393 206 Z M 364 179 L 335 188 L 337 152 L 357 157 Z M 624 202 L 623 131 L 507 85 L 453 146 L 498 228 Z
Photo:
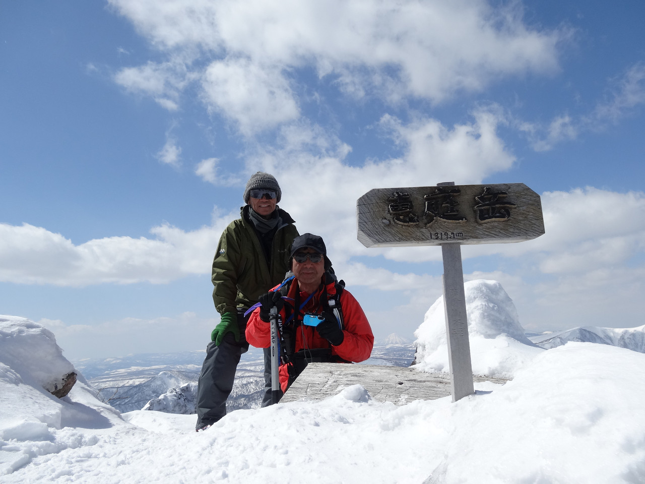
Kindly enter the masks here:
M 235 410 L 199 433 L 191 415 L 121 415 L 81 375 L 55 398 L 43 386 L 70 363 L 54 336 L 0 316 L 0 481 L 645 482 L 645 354 L 595 343 L 537 348 L 501 286 L 474 282 L 473 368 L 513 374 L 505 385 L 475 383 L 476 394 L 456 403 L 401 407 L 354 385 L 324 401 Z M 417 367 L 442 363 L 435 306 L 417 331 Z

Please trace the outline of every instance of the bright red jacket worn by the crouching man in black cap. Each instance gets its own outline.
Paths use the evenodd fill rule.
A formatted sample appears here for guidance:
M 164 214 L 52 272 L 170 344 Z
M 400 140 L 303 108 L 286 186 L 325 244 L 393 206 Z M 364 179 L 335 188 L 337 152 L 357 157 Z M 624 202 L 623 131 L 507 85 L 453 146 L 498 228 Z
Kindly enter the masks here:
M 279 287 L 280 285 L 277 285 L 270 292 L 277 290 Z M 290 309 L 288 314 L 293 314 L 293 301 L 296 299 L 295 291 L 297 290 L 297 287 L 298 285 L 296 283 L 292 283 L 288 294 L 283 297 L 284 305 L 288 306 Z M 327 284 L 324 289 L 326 289 L 328 297 L 332 297 L 336 294 L 336 288 L 333 282 Z M 306 303 L 299 312 L 298 320 L 295 322 L 295 351 L 297 352 L 305 348 L 331 348 L 332 355 L 338 356 L 346 361 L 354 361 L 357 363 L 370 358 L 372 347 L 374 345 L 372 328 L 370 327 L 370 323 L 368 322 L 361 305 L 359 305 L 358 301 L 348 290 L 342 290 L 340 299 L 342 318 L 344 320 L 344 339 L 340 345 L 332 346 L 329 341 L 318 334 L 314 327 L 302 324 L 304 312 L 320 314 L 326 308 L 326 301 L 320 300 L 324 293 L 325 291 L 321 286 L 318 292 L 313 295 L 312 299 L 310 299 L 310 301 L 308 301 L 308 303 Z M 309 296 L 309 294 L 301 292 L 297 299 L 300 301 L 306 301 Z M 286 319 L 286 312 L 285 308 L 280 312 L 282 321 Z M 260 318 L 259 307 L 253 310 L 253 313 L 248 319 L 248 324 L 246 325 L 246 341 L 257 348 L 268 348 L 271 346 L 270 323 L 263 321 Z M 290 364 L 291 363 L 288 365 Z M 288 365 L 280 365 L 280 387 L 283 392 L 285 392 L 288 387 Z

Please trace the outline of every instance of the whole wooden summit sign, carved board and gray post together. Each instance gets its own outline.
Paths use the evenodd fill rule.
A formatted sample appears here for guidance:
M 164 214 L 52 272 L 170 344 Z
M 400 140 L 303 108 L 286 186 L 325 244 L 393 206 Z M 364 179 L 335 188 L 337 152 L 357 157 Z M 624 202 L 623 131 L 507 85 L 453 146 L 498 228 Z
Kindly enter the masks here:
M 358 199 L 356 215 L 365 247 L 441 245 L 452 401 L 473 394 L 461 245 L 541 236 L 540 196 L 524 183 L 374 188 Z

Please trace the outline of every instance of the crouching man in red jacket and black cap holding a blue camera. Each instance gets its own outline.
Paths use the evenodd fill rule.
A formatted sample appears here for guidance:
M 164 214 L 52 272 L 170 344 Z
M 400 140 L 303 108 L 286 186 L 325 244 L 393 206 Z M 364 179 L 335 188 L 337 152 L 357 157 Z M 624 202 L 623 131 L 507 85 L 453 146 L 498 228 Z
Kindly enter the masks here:
M 322 237 L 295 237 L 290 264 L 293 277 L 259 297 L 246 326 L 251 345 L 270 347 L 270 310 L 278 308 L 283 393 L 307 363 L 364 361 L 374 344 L 361 305 L 333 276 Z

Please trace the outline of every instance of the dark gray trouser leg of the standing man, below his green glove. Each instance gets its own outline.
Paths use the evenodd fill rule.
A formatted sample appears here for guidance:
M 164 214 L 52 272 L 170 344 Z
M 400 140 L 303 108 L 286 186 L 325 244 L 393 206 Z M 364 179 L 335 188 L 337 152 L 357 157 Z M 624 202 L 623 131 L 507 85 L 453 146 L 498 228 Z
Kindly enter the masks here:
M 240 330 L 239 343 L 235 341 L 232 333 L 226 333 L 219 346 L 215 346 L 215 341 L 211 341 L 206 347 L 206 358 L 199 374 L 197 388 L 196 429 L 215 423 L 226 415 L 226 399 L 233 389 L 237 364 L 240 362 L 240 356 L 248 351 L 248 343 L 244 338 L 246 319 L 241 312 L 237 313 L 237 325 Z

